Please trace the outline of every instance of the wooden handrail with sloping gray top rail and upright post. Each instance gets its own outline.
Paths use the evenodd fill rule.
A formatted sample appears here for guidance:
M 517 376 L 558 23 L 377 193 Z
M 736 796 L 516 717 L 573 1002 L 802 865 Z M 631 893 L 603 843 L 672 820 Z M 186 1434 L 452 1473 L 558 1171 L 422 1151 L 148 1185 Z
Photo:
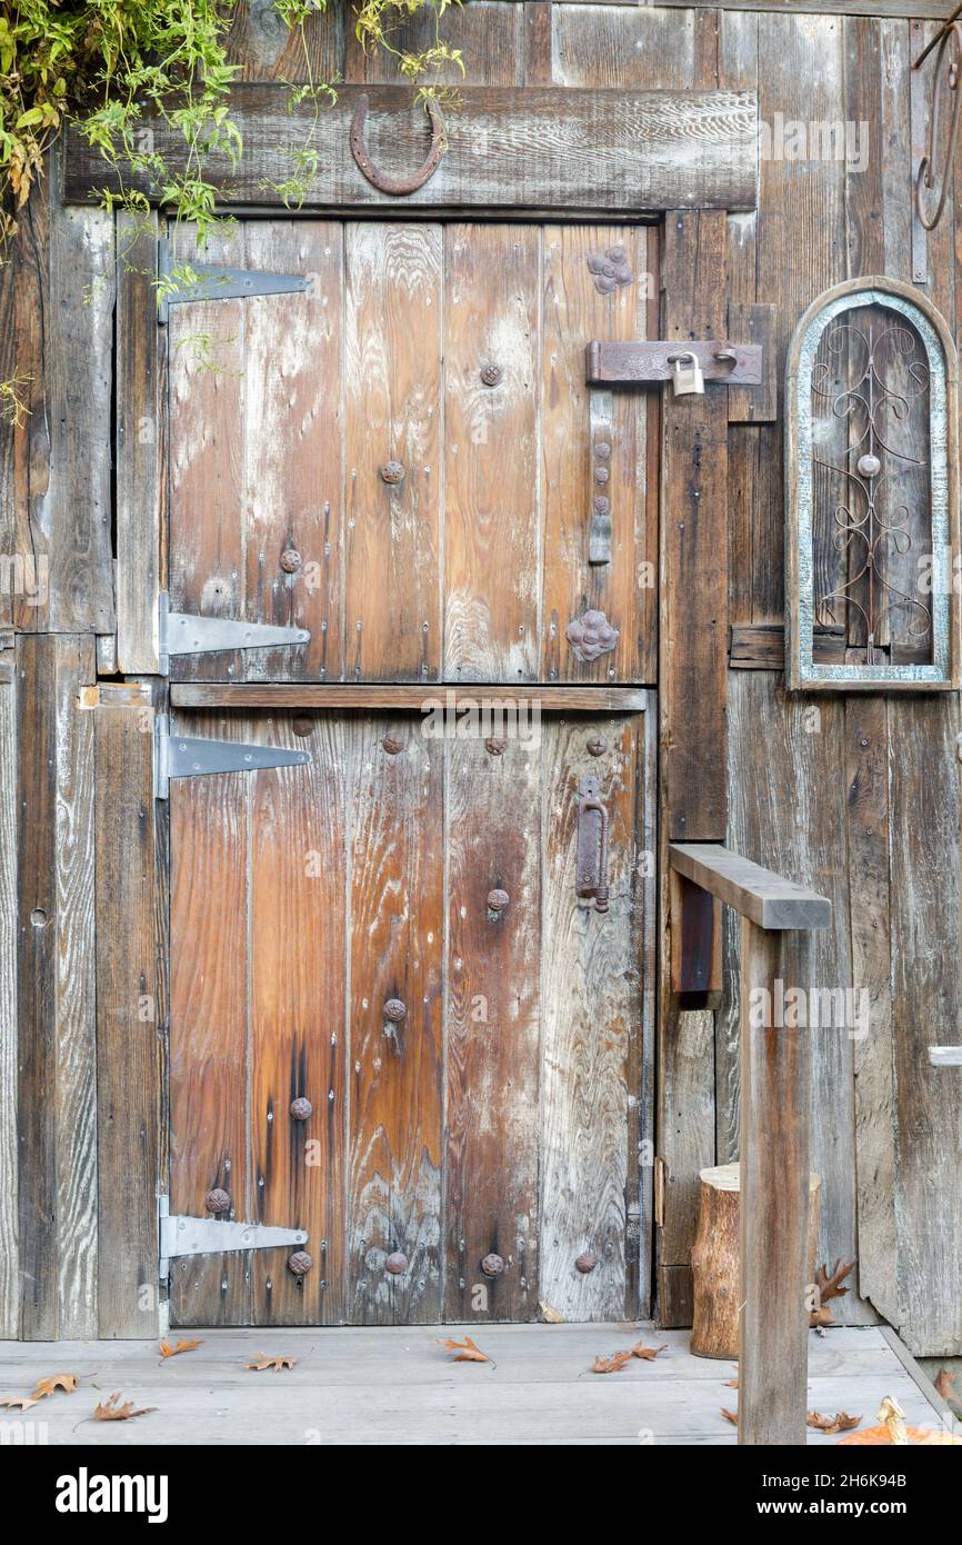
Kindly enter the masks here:
M 832 904 L 720 844 L 669 845 L 672 868 L 741 915 L 741 1316 L 738 1443 L 806 1441 L 811 1026 L 775 1023 L 812 986 Z M 781 989 L 781 993 L 778 992 Z

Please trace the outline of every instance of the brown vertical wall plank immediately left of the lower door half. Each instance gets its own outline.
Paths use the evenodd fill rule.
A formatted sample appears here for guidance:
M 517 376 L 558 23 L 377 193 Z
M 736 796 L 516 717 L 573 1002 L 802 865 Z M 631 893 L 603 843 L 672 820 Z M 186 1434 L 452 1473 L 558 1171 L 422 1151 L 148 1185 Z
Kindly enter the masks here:
M 102 1336 L 158 1324 L 153 708 L 111 706 L 96 742 L 97 1176 Z

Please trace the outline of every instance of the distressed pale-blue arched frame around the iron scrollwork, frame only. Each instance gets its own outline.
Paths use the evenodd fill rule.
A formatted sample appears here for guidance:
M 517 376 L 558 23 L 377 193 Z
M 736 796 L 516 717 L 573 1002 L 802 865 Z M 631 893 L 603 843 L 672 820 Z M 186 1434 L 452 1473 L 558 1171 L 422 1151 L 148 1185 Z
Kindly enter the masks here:
M 814 641 L 814 476 L 812 368 L 832 321 L 862 306 L 903 315 L 919 334 L 930 368 L 930 519 L 931 552 L 942 555 L 931 593 L 933 663 L 817 663 Z M 959 366 L 942 314 L 897 280 L 872 275 L 825 290 L 798 323 L 786 365 L 784 431 L 784 582 L 786 684 L 789 691 L 947 691 L 959 688 Z

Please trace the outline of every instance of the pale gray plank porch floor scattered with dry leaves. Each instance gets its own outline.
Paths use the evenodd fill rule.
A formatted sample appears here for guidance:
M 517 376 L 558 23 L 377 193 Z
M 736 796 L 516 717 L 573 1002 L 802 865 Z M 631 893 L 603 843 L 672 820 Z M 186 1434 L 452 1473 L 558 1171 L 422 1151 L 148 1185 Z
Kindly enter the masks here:
M 493 1363 L 449 1361 L 437 1336 L 465 1333 Z M 590 1372 L 598 1353 L 638 1340 L 669 1350 L 619 1374 Z M 247 1372 L 261 1352 L 295 1357 L 296 1366 Z M 721 1406 L 738 1400 L 726 1387 L 730 1363 L 693 1358 L 687 1330 L 649 1326 L 208 1330 L 198 1350 L 168 1360 L 153 1341 L 0 1344 L 0 1395 L 29 1394 L 60 1372 L 80 1375 L 77 1390 L 23 1417 L 46 1423 L 39 1438 L 51 1445 L 724 1445 L 735 1429 Z M 113 1390 L 158 1409 L 136 1421 L 86 1420 Z M 879 1329 L 811 1336 L 809 1409 L 848 1411 L 871 1426 L 883 1395 L 911 1423 L 939 1423 Z M 809 1443 L 835 1441 L 809 1432 Z

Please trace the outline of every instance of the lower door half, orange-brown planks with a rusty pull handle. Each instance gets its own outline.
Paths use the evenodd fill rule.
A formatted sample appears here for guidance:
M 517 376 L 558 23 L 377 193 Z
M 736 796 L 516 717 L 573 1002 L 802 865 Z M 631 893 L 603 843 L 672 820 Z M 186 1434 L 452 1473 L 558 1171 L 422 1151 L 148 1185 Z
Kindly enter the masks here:
M 312 1265 L 174 1258 L 176 1326 L 645 1310 L 645 717 L 179 715 L 312 763 L 171 783 L 170 1210 Z

